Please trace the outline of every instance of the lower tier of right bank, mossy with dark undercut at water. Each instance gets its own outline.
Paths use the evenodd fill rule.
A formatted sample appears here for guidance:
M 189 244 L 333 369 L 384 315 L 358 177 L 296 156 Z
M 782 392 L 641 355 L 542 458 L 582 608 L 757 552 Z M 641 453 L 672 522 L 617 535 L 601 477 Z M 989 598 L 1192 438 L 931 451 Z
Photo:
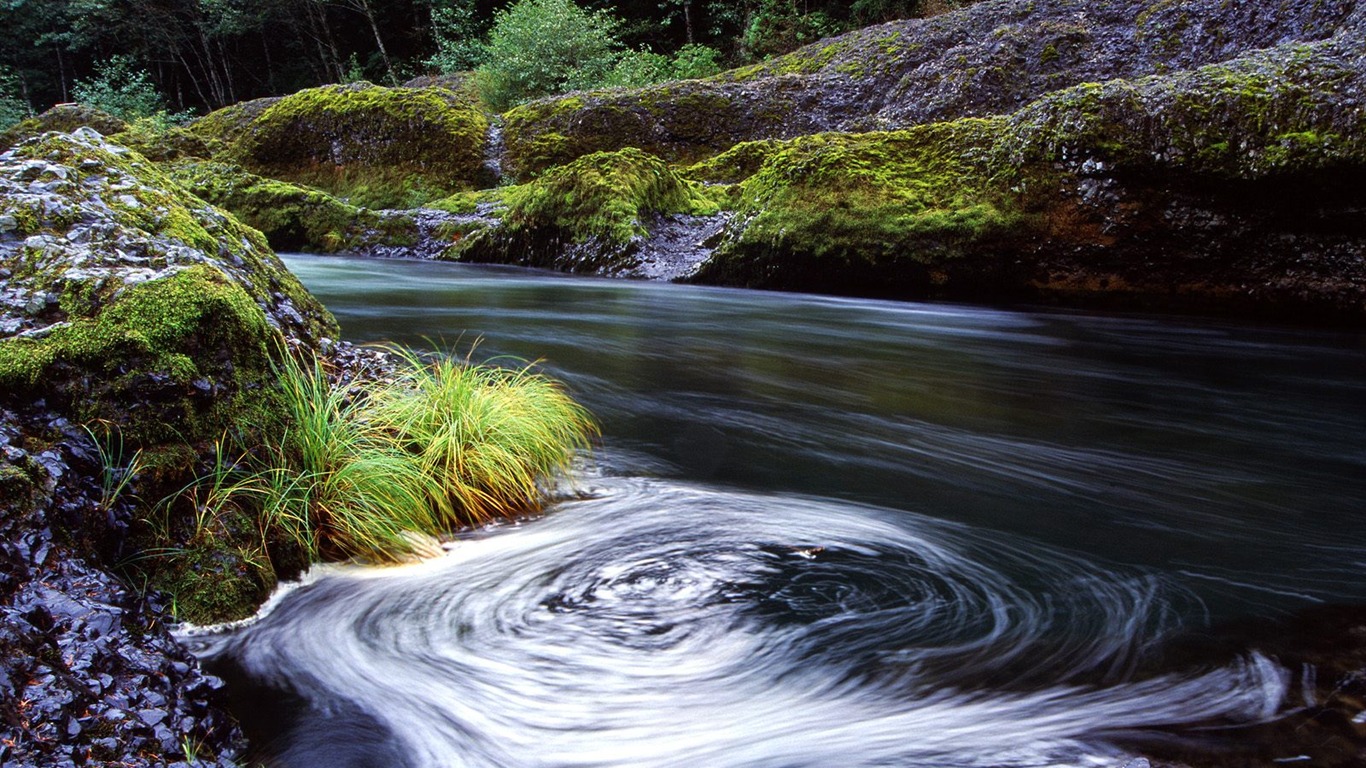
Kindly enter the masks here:
M 743 179 L 698 279 L 1362 323 L 1363 97 L 1344 36 L 1004 118 L 742 145 L 690 169 Z

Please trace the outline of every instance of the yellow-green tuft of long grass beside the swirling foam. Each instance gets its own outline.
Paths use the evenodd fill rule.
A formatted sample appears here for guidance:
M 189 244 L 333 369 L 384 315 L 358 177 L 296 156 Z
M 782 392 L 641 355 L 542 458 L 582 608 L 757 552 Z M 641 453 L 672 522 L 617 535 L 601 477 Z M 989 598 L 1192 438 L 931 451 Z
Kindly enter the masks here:
M 279 370 L 287 428 L 249 467 L 224 471 L 225 503 L 258 507 L 264 533 L 314 559 L 398 560 L 425 534 L 541 506 L 596 433 L 589 414 L 529 366 L 501 369 L 395 350 L 399 374 L 359 392 L 316 361 Z

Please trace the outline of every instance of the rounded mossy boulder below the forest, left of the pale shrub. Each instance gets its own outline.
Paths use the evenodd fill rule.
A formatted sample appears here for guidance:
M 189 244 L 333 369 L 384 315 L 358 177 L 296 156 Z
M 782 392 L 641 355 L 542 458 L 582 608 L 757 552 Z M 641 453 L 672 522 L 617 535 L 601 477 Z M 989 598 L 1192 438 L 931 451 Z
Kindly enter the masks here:
M 488 118 L 444 87 L 302 90 L 266 107 L 229 156 L 254 174 L 366 208 L 413 208 L 485 186 Z

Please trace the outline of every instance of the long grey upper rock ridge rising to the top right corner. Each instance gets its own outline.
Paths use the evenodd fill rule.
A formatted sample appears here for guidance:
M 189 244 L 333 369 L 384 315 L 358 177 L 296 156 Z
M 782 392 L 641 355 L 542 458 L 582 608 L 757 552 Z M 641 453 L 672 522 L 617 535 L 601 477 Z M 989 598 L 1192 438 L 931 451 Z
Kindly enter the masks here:
M 1354 0 L 1014 0 L 856 30 L 705 81 L 605 90 L 507 115 L 508 172 L 526 179 L 638 146 L 693 163 L 743 141 L 895 130 L 1008 115 L 1083 82 L 1227 61 L 1358 26 Z

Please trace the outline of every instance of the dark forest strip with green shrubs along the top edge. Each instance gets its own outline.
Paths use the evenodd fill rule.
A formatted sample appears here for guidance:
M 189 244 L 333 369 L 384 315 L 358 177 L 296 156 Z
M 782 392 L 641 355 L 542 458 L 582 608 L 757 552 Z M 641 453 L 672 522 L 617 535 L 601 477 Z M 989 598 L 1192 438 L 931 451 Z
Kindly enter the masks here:
M 0 40 L 0 127 L 56 102 L 98 101 L 101 89 L 105 97 L 124 92 L 141 98 L 130 116 L 157 109 L 175 116 L 332 82 L 398 85 L 475 68 L 490 75 L 500 67 L 535 67 L 544 71 L 529 77 L 552 82 L 552 90 L 645 85 L 960 4 L 3 0 L 0 23 L 8 34 Z M 518 5 L 520 15 L 512 14 Z M 500 23 L 511 34 L 490 40 Z M 514 90 L 500 97 L 494 85 L 493 101 L 541 96 Z

